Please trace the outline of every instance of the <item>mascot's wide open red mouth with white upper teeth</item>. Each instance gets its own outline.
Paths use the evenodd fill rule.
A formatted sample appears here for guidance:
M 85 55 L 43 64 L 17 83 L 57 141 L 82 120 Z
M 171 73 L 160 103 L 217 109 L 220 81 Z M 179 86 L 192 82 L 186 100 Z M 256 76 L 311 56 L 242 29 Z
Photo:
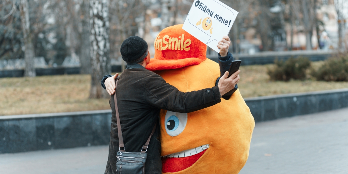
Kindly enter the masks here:
M 162 157 L 162 172 L 179 172 L 192 166 L 209 148 L 209 144 L 183 150 Z

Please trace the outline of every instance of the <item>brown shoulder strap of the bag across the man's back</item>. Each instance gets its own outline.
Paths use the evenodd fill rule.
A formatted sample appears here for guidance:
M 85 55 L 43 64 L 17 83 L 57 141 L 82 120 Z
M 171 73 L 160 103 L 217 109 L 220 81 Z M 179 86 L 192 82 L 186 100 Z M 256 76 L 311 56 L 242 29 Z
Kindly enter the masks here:
M 121 130 L 121 122 L 120 122 L 120 115 L 118 113 L 118 107 L 117 107 L 117 95 L 116 95 L 116 90 L 117 90 L 117 82 L 118 82 L 118 78 L 116 80 L 116 88 L 115 88 L 115 94 L 114 94 L 114 100 L 115 100 L 115 110 L 116 110 L 116 120 L 117 120 L 117 132 L 118 132 L 118 142 L 119 142 L 119 148 L 118 150 L 121 151 L 121 152 L 125 152 L 126 150 L 126 147 L 124 146 L 124 143 L 123 143 L 123 136 L 122 136 L 122 130 Z M 155 133 L 155 130 L 156 130 L 156 126 L 157 126 L 157 121 L 156 121 L 156 124 L 155 126 L 153 127 L 152 129 L 152 132 L 151 132 L 151 135 L 149 136 L 148 140 L 146 141 L 145 145 L 143 145 L 142 149 L 141 149 L 141 152 L 146 152 L 148 151 L 148 147 L 149 147 L 149 143 L 150 143 L 150 139 L 151 139 L 151 136 L 153 135 L 153 133 Z M 121 148 L 123 148 L 121 150 Z M 145 150 L 145 151 L 143 151 Z

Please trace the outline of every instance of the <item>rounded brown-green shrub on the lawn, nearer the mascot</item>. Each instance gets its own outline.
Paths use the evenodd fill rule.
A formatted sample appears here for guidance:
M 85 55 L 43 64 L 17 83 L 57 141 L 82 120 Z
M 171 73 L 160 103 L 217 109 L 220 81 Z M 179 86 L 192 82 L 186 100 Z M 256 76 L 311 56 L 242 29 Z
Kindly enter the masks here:
M 306 57 L 289 58 L 287 61 L 274 61 L 275 67 L 268 69 L 271 80 L 289 81 L 290 79 L 306 79 L 306 70 L 310 67 L 310 61 Z

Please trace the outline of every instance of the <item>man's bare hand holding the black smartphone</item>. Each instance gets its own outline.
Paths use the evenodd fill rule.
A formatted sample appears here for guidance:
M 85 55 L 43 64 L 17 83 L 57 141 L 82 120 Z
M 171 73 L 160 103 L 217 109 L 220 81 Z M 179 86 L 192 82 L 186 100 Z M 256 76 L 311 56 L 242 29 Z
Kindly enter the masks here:
M 219 84 L 217 85 L 219 86 L 221 96 L 235 88 L 235 85 L 239 82 L 239 72 L 240 70 L 232 74 L 232 76 L 230 76 L 229 78 L 227 78 L 228 71 L 223 74 L 223 76 L 219 80 Z

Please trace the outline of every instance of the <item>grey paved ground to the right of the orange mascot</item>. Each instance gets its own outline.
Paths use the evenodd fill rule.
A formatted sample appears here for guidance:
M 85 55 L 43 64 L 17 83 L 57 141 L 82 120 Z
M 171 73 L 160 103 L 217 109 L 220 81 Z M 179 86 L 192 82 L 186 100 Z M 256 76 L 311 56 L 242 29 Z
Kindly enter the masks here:
M 347 174 L 348 108 L 256 123 L 239 174 Z

